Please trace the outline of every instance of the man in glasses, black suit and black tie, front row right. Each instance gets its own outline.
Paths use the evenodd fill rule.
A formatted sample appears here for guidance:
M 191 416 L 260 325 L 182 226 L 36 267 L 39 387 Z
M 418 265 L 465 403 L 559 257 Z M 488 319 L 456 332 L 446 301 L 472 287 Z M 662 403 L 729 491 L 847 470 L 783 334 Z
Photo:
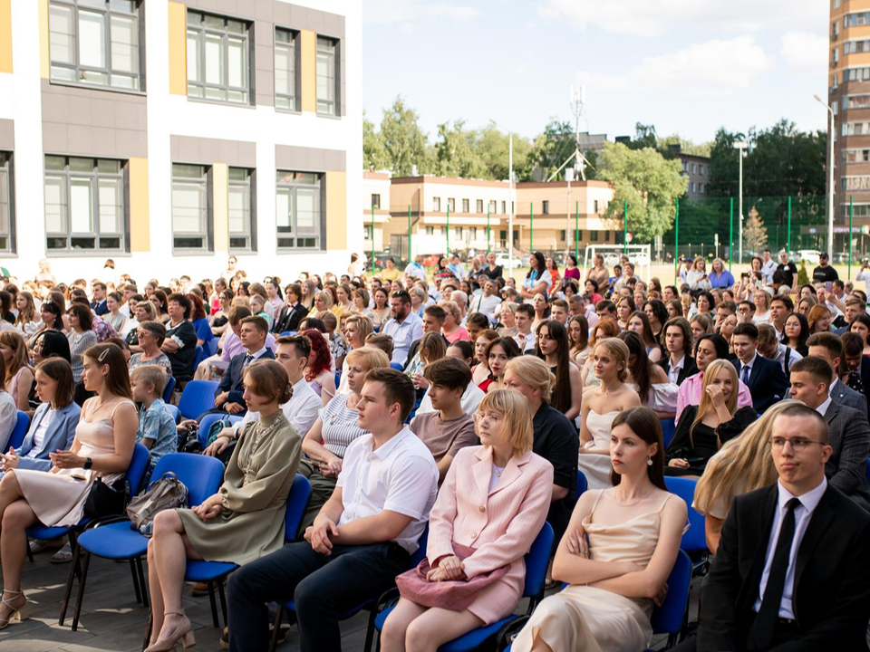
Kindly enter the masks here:
M 698 636 L 675 652 L 867 649 L 870 514 L 827 483 L 832 450 L 815 410 L 785 408 L 770 443 L 778 483 L 735 498 Z

